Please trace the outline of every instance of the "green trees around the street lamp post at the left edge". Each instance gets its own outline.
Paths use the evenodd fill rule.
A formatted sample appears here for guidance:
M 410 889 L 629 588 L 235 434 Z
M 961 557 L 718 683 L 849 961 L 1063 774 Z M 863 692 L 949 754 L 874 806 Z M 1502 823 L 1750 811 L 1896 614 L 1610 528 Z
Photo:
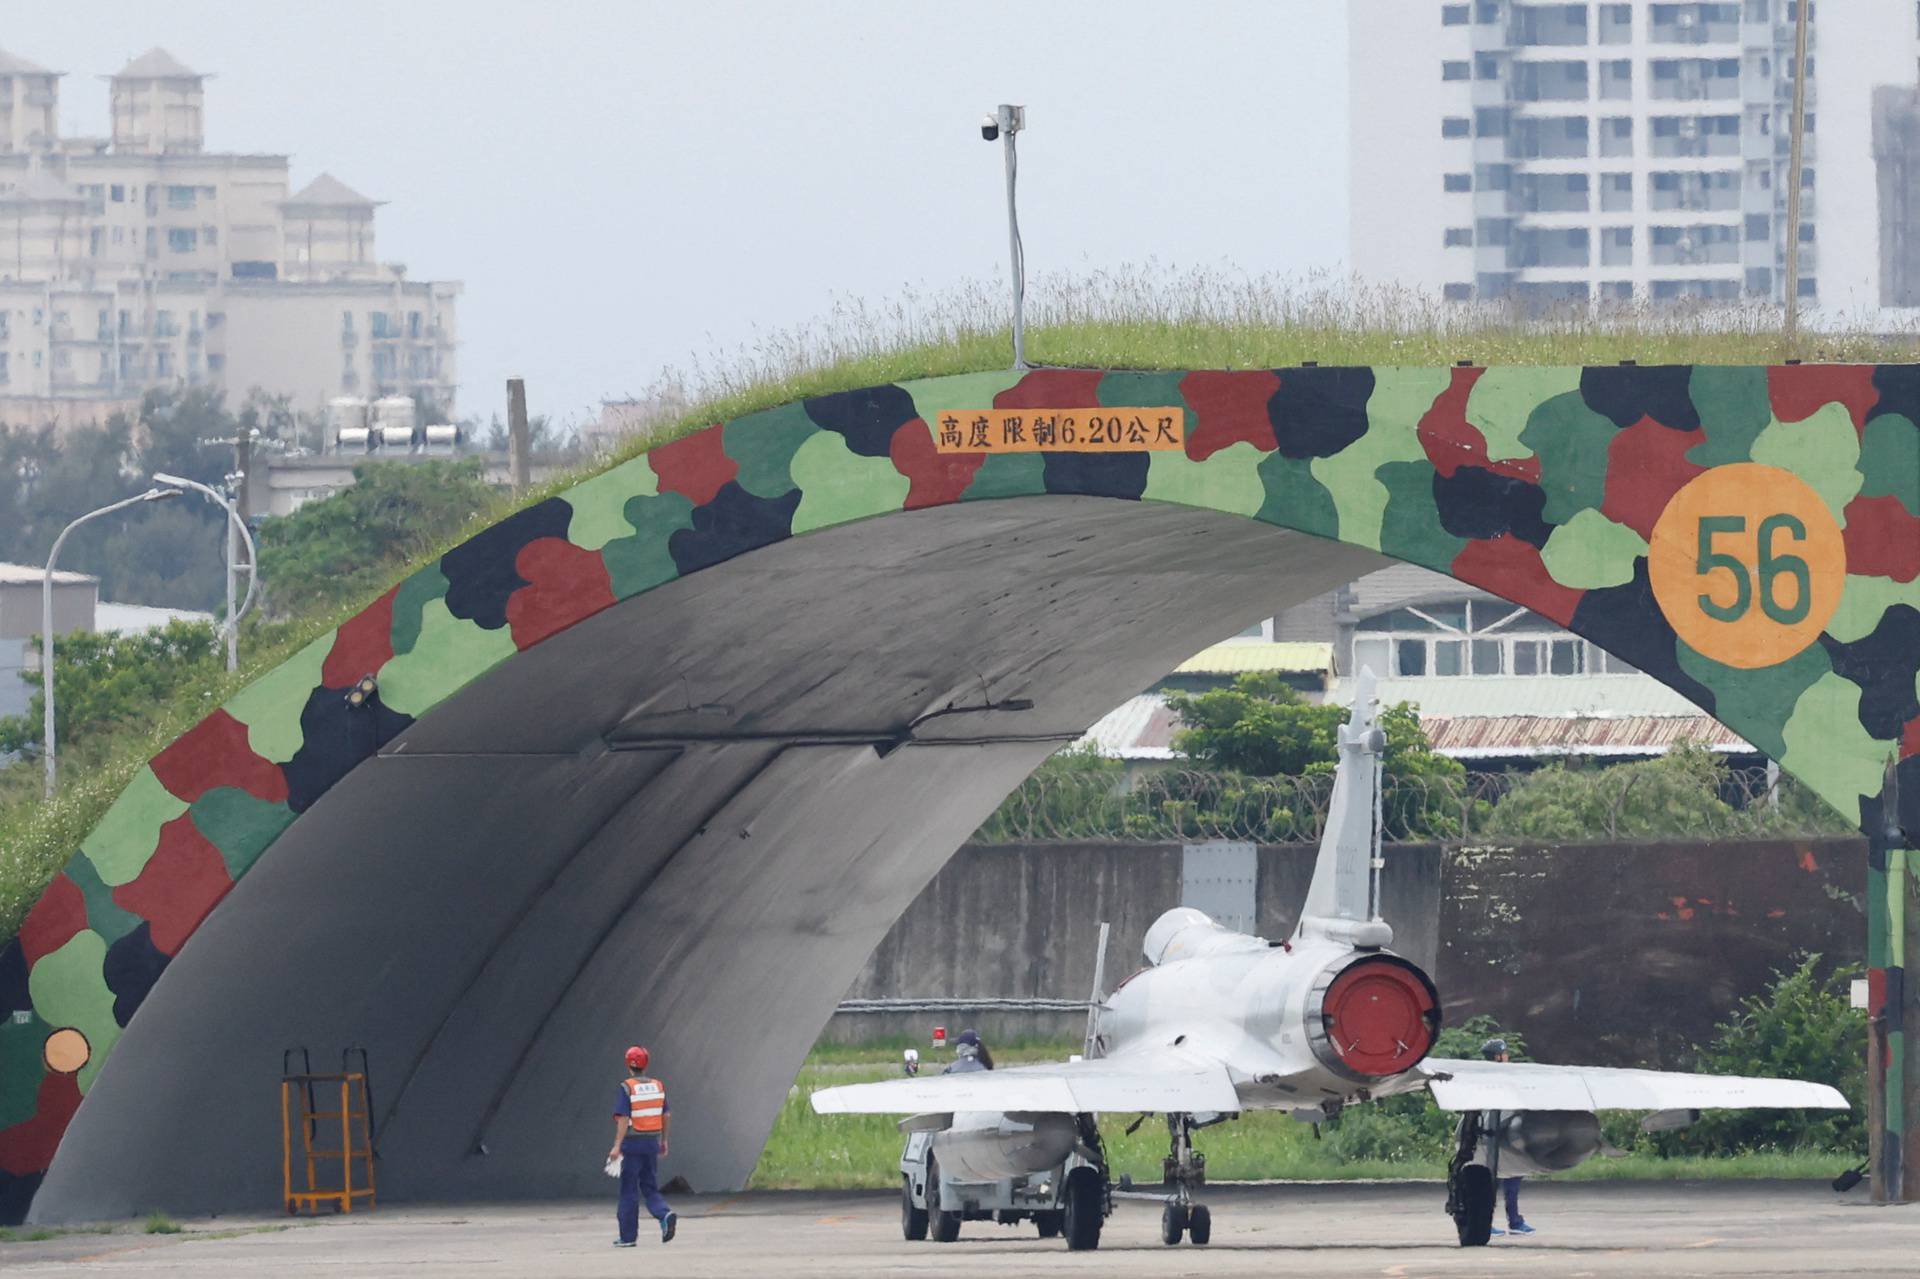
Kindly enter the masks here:
M 177 689 L 217 678 L 225 647 L 207 622 L 169 622 L 142 634 L 75 632 L 54 645 L 54 730 L 60 755 L 84 751 L 94 737 L 152 720 Z M 27 714 L 0 718 L 0 755 L 38 755 L 42 745 L 40 676 Z

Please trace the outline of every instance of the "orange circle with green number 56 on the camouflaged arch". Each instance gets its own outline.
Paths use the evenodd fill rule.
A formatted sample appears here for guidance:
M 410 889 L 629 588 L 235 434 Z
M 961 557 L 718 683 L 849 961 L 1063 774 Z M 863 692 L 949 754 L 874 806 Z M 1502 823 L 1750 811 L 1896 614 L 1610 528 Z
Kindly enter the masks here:
M 1811 484 L 1780 467 L 1715 467 L 1672 495 L 1647 547 L 1674 634 L 1726 666 L 1776 666 L 1839 609 L 1847 543 Z

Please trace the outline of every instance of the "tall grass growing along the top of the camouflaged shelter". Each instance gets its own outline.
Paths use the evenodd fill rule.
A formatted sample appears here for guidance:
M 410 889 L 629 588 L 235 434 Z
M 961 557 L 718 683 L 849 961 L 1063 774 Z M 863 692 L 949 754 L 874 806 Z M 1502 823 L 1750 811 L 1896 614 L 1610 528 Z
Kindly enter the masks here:
M 1112 369 L 1263 369 L 1321 365 L 1503 365 L 1908 361 L 1914 334 L 1811 332 L 1789 351 L 1772 307 L 1615 307 L 1555 317 L 1444 307 L 1405 290 L 1356 288 L 1319 277 L 1286 280 L 1231 269 L 1175 271 L 1148 263 L 1091 277 L 1041 275 L 1027 290 L 1027 353 L 1039 365 Z M 522 497 L 501 494 L 445 545 L 392 565 L 392 580 L 511 511 L 541 501 L 647 447 L 716 421 L 808 396 L 881 382 L 1002 369 L 1008 363 L 1000 284 L 981 282 L 924 298 L 902 290 L 883 305 L 856 300 L 803 328 L 693 359 L 649 392 L 687 407 L 611 457 L 559 474 Z M 365 603 L 365 601 L 361 601 Z M 0 939 L 10 939 L 48 880 L 125 789 L 138 768 L 234 691 L 351 616 L 359 605 L 278 624 L 244 643 L 240 672 L 182 688 L 152 716 L 61 768 L 61 791 L 42 803 L 38 768 L 0 770 Z

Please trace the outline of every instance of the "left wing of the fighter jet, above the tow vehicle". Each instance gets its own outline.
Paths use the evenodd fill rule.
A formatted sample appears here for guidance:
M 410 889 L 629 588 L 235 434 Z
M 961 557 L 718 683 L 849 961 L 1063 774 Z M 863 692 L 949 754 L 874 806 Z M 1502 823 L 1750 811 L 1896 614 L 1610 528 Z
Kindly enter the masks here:
M 1154 1050 L 1091 1062 L 1006 1066 L 954 1075 L 845 1083 L 812 1095 L 816 1114 L 937 1114 L 948 1110 L 1236 1112 L 1227 1068 L 1198 1054 Z

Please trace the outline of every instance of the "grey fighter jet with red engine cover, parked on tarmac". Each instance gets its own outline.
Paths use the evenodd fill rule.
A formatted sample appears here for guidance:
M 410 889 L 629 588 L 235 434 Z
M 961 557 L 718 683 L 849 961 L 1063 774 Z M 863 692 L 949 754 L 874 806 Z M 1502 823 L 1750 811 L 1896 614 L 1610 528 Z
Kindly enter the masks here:
M 1206 1160 L 1192 1146 L 1196 1129 L 1248 1110 L 1319 1122 L 1425 1087 L 1444 1110 L 1461 1112 L 1448 1212 L 1459 1243 L 1475 1246 L 1492 1231 L 1500 1175 L 1563 1171 L 1603 1148 L 1596 1110 L 1655 1112 L 1644 1122 L 1653 1131 L 1709 1108 L 1847 1106 L 1839 1091 L 1797 1079 L 1428 1056 L 1440 1031 L 1438 989 L 1394 954 L 1394 929 L 1380 918 L 1379 711 L 1375 678 L 1361 672 L 1338 734 L 1313 880 L 1284 941 L 1231 931 L 1194 908 L 1167 910 L 1146 931 L 1144 970 L 1110 995 L 1094 977 L 1083 1056 L 820 1089 L 814 1110 L 912 1116 L 900 1127 L 931 1133 L 929 1166 L 966 1168 L 983 1181 L 1044 1185 L 1071 1166 L 1068 1177 L 1081 1177 L 1075 1189 L 1085 1191 L 1098 1175 L 1098 1216 L 1091 1195 L 1068 1202 L 1069 1227 L 1079 1218 L 1068 1243 L 1089 1248 L 1098 1246 L 1116 1195 L 1131 1189 L 1108 1177 L 1102 1112 L 1165 1116 L 1167 1191 L 1152 1196 L 1165 1200 L 1162 1239 L 1206 1243 L 1212 1216 L 1198 1202 Z M 952 1187 L 939 1195 L 956 1202 Z

